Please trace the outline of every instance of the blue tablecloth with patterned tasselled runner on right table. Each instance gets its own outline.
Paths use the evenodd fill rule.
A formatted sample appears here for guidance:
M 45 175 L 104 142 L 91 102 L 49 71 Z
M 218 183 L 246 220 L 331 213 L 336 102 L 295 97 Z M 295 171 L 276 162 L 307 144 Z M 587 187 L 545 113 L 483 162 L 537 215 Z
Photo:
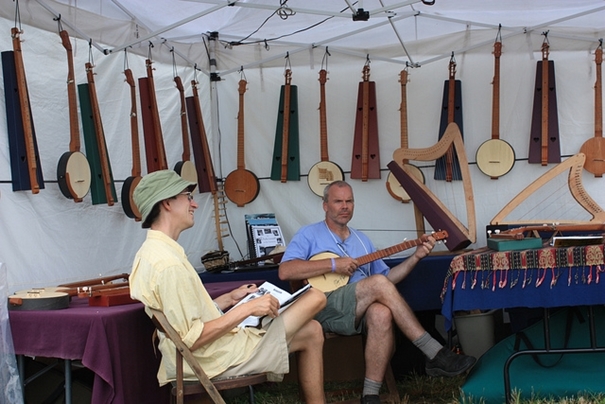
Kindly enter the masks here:
M 602 244 L 459 255 L 443 285 L 446 329 L 459 310 L 605 304 L 604 270 Z

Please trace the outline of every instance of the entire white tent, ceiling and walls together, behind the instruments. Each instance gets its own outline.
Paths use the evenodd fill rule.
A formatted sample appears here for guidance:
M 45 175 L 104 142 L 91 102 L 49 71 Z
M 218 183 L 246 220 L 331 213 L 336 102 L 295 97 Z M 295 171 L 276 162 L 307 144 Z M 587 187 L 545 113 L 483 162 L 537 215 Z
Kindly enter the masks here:
M 371 80 L 376 82 L 384 178 L 386 164 L 400 147 L 399 72 L 407 66 L 410 73 L 410 147 L 428 147 L 438 139 L 442 90 L 452 53 L 456 78 L 462 82 L 466 153 L 474 163 L 477 148 L 491 133 L 492 45 L 501 26 L 500 132 L 515 149 L 518 161 L 497 181 L 471 164 L 479 234 L 473 246 L 477 247 L 485 244 L 483 229 L 491 218 L 551 168 L 525 161 L 535 66 L 545 39 L 557 69 L 561 154 L 577 153 L 594 136 L 594 50 L 603 37 L 603 1 L 436 0 L 427 5 L 396 0 L 0 0 L 3 51 L 12 49 L 10 29 L 16 24 L 17 4 L 46 187 L 38 195 L 12 191 L 6 114 L 0 113 L 0 262 L 7 264 L 14 290 L 128 272 L 145 233 L 139 223 L 124 215 L 120 203 L 92 205 L 87 196 L 76 204 L 58 189 L 56 165 L 69 140 L 67 67 L 58 36 L 59 16 L 74 42 L 77 82 L 85 82 L 83 66 L 91 57 L 96 65 L 98 98 L 118 193 L 132 164 L 124 55 L 128 55 L 135 77 L 145 76 L 145 58 L 155 62 L 170 166 L 182 153 L 175 71 L 186 83 L 187 94 L 191 94 L 188 83 L 194 78 L 200 81 L 213 163 L 222 178 L 236 167 L 238 81 L 247 79 L 246 166 L 260 178 L 261 189 L 258 198 L 243 208 L 227 205 L 231 237 L 224 242 L 235 260 L 247 254 L 244 214 L 274 212 L 286 241 L 301 225 L 323 216 L 320 199 L 308 189 L 304 176 L 286 184 L 269 179 L 286 63 L 292 69 L 292 84 L 299 87 L 302 174 L 319 161 L 317 73 L 325 58 L 330 160 L 343 168 L 347 179 L 357 83 L 368 61 Z M 367 20 L 363 12 L 368 13 Z M 359 16 L 358 21 L 353 15 Z M 326 56 L 328 52 L 330 56 Z M 220 80 L 210 81 L 211 73 Z M 4 99 L 0 104 L 4 111 Z M 427 185 L 437 189 L 441 200 L 466 222 L 459 190 L 455 186 L 448 190 L 439 182 L 431 184 L 433 167 L 423 167 L 423 171 L 429 179 Z M 413 206 L 391 198 L 384 178 L 352 181 L 357 201 L 352 225 L 366 230 L 378 248 L 405 237 L 415 238 Z M 590 195 L 605 206 L 602 179 L 585 173 L 583 182 Z M 555 197 L 554 191 L 542 191 L 542 196 L 560 201 L 566 214 L 570 213 L 569 201 Z M 192 263 L 200 267 L 201 255 L 216 249 L 217 244 L 212 198 L 198 194 L 196 201 L 200 205 L 196 226 L 180 242 Z M 543 210 L 544 205 L 541 207 Z

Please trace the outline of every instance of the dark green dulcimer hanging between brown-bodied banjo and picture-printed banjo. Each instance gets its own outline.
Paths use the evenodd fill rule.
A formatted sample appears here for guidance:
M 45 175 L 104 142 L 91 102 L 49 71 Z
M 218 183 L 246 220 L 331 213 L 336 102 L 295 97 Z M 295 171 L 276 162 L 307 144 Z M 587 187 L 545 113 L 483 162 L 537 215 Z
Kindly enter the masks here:
M 298 88 L 291 85 L 292 71 L 286 69 L 286 83 L 279 94 L 271 179 L 286 182 L 300 180 L 298 144 Z

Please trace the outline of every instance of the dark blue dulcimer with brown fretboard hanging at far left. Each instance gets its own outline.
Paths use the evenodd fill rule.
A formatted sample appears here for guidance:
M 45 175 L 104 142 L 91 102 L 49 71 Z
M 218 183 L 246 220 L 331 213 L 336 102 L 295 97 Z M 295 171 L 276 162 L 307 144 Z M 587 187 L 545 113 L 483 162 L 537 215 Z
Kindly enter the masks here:
M 11 28 L 11 36 L 13 52 L 2 52 L 2 66 L 11 146 L 13 191 L 31 190 L 32 194 L 37 194 L 44 188 L 44 179 L 29 104 L 21 50 L 21 31 L 17 27 Z

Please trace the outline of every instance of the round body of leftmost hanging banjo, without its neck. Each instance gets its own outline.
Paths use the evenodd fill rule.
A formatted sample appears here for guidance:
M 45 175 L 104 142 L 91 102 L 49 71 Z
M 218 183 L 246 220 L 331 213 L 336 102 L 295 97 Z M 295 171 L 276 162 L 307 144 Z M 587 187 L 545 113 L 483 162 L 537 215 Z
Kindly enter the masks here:
M 86 156 L 79 151 L 63 153 L 57 164 L 57 182 L 63 196 L 81 201 L 88 194 L 91 182 Z

